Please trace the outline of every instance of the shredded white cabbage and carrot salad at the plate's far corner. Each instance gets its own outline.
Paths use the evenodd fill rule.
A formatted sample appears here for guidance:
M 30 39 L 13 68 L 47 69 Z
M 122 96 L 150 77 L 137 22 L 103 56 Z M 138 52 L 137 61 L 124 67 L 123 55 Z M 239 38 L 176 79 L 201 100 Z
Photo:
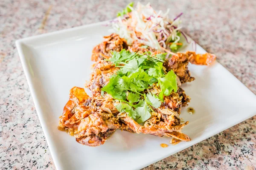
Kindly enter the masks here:
M 156 12 L 150 3 L 137 3 L 133 7 L 130 3 L 123 11 L 117 14 L 112 21 L 113 29 L 120 37 L 125 38 L 130 45 L 134 40 L 159 51 L 177 51 L 182 46 L 180 42 L 180 16 L 173 20 L 168 18 L 169 10 Z

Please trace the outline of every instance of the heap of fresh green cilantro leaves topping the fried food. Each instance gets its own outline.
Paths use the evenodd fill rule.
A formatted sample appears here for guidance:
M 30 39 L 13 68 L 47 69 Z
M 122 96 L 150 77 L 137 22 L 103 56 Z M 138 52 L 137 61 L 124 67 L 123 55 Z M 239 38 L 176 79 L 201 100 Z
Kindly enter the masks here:
M 110 94 L 120 102 L 116 105 L 119 112 L 126 112 L 138 123 L 151 117 L 153 108 L 159 108 L 164 96 L 172 91 L 177 92 L 176 75 L 173 71 L 166 73 L 163 67 L 166 54 L 151 54 L 150 51 L 138 54 L 123 49 L 114 51 L 108 61 L 119 67 L 109 80 L 108 85 L 101 90 Z M 158 96 L 147 92 L 152 85 L 160 87 Z

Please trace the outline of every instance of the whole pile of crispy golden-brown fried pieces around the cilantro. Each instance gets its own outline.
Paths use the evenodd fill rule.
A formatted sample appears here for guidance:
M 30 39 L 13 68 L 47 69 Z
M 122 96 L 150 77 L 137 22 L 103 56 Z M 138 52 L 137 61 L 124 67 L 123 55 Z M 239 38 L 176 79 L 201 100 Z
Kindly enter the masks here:
M 111 75 L 119 69 L 115 68 L 111 62 L 104 60 L 111 57 L 111 50 L 121 51 L 125 48 L 141 53 L 148 50 L 155 54 L 160 53 L 151 48 L 142 48 L 142 44 L 137 42 L 128 47 L 125 40 L 117 34 L 111 34 L 104 38 L 104 42 L 93 48 L 92 60 L 96 62 L 93 64 L 90 81 L 86 84 L 86 87 L 92 92 L 92 96 L 88 96 L 83 88 L 74 87 L 70 90 L 70 99 L 64 107 L 63 115 L 60 116 L 60 129 L 72 131 L 77 142 L 88 146 L 104 144 L 116 129 L 131 133 L 172 137 L 174 144 L 191 140 L 189 136 L 181 133 L 181 129 L 188 122 L 181 123 L 180 111 L 189 102 L 189 97 L 186 96 L 182 88 L 178 87 L 177 93 L 172 92 L 169 96 L 165 96 L 160 107 L 154 108 L 151 117 L 143 125 L 135 122 L 127 113 L 119 113 L 115 107 L 119 103 L 113 100 L 111 95 L 101 93 L 101 88 L 108 84 Z M 180 86 L 180 82 L 194 80 L 188 71 L 189 62 L 209 65 L 214 60 L 215 56 L 212 54 L 198 55 L 188 51 L 185 54 L 177 53 L 172 56 L 164 66 L 167 71 L 171 69 L 175 71 L 178 77 L 178 86 Z M 156 84 L 147 91 L 156 95 L 160 93 Z

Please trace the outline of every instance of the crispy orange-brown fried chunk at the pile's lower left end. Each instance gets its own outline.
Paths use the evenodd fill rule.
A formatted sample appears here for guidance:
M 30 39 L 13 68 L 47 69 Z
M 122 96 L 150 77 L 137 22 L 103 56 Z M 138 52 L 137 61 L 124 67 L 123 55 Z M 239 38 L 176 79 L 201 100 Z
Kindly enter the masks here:
M 99 146 L 119 128 L 112 113 L 102 110 L 103 100 L 89 97 L 84 88 L 73 87 L 70 99 L 60 116 L 59 127 L 74 132 L 76 141 L 88 146 Z

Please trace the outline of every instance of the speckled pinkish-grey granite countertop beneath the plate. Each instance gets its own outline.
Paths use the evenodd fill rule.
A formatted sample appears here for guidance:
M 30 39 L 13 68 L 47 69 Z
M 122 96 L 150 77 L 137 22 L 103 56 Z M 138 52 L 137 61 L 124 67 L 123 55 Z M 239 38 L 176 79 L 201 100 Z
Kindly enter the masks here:
M 148 1 L 142 1 L 146 3 Z M 255 0 L 149 0 L 256 94 Z M 0 167 L 55 169 L 15 40 L 110 20 L 127 0 L 0 1 Z M 239 90 L 239 89 L 238 89 Z M 239 96 L 237 96 L 239 97 Z M 242 101 L 241 101 L 242 103 Z M 144 170 L 256 169 L 256 116 Z

